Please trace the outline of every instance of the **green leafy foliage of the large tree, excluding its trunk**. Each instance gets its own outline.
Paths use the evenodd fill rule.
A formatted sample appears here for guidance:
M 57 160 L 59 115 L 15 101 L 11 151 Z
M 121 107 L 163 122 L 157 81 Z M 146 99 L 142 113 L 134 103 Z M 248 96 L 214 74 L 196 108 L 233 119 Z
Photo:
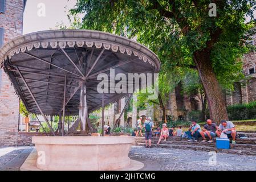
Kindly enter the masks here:
M 152 49 L 161 60 L 159 93 L 165 105 L 166 94 L 180 81 L 186 93 L 202 90 L 200 68 L 194 63 L 197 52 L 206 53 L 205 60 L 212 64 L 222 89 L 233 90 L 233 83 L 243 79 L 241 57 L 249 51 L 244 43 L 254 26 L 253 22 L 245 23 L 245 15 L 253 17 L 256 1 L 214 1 L 217 17 L 208 15 L 211 2 L 78 0 L 70 12 L 84 15 L 82 28 L 136 38 Z M 160 104 L 147 100 L 147 95 L 139 95 L 138 100 L 139 105 Z

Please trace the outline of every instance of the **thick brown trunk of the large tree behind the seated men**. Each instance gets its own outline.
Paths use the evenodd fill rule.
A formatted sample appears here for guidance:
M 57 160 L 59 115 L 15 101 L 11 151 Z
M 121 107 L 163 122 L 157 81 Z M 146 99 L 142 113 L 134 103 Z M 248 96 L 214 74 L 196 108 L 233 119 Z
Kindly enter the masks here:
M 208 49 L 194 52 L 193 58 L 207 96 L 210 119 L 216 123 L 220 123 L 222 119 L 228 120 L 222 90 L 213 72 Z

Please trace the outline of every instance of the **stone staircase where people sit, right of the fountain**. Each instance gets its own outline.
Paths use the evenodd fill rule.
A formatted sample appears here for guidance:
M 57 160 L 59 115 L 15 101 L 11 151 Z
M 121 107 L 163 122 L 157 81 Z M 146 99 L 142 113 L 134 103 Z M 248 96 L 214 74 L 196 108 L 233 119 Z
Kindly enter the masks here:
M 254 136 L 254 135 L 250 135 L 250 136 Z M 166 142 L 162 140 L 159 145 L 156 145 L 158 140 L 159 140 L 159 137 L 152 138 L 153 147 L 177 148 L 177 149 L 184 149 L 184 150 L 216 151 L 216 152 L 225 152 L 227 154 L 238 154 L 238 155 L 256 155 L 256 137 L 250 137 L 246 139 L 237 138 L 236 144 L 230 143 L 229 150 L 217 149 L 215 141 L 213 143 L 201 142 L 202 138 L 199 138 L 198 142 L 188 142 L 188 139 L 185 139 L 185 138 L 181 139 L 180 137 L 169 137 L 166 140 Z M 136 137 L 134 145 L 145 146 L 144 137 Z

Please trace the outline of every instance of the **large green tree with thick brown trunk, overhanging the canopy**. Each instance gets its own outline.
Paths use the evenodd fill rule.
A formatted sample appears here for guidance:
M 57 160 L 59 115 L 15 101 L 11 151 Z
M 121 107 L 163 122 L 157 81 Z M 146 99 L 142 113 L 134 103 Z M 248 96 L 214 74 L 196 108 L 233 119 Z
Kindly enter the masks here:
M 217 16 L 209 16 L 210 3 Z M 196 68 L 208 98 L 210 118 L 228 119 L 221 82 L 241 77 L 240 58 L 254 0 L 78 0 L 72 14 L 84 14 L 82 28 L 137 37 L 156 52 L 162 67 Z

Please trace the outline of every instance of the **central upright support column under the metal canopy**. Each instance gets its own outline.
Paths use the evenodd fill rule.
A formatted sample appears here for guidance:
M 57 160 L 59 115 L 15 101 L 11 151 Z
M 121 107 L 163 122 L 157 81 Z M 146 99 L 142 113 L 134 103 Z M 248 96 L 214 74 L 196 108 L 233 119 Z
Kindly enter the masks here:
M 86 101 L 86 85 L 82 83 L 81 92 L 80 92 L 80 120 L 81 120 L 81 129 L 86 131 L 86 116 L 88 115 L 88 107 Z

